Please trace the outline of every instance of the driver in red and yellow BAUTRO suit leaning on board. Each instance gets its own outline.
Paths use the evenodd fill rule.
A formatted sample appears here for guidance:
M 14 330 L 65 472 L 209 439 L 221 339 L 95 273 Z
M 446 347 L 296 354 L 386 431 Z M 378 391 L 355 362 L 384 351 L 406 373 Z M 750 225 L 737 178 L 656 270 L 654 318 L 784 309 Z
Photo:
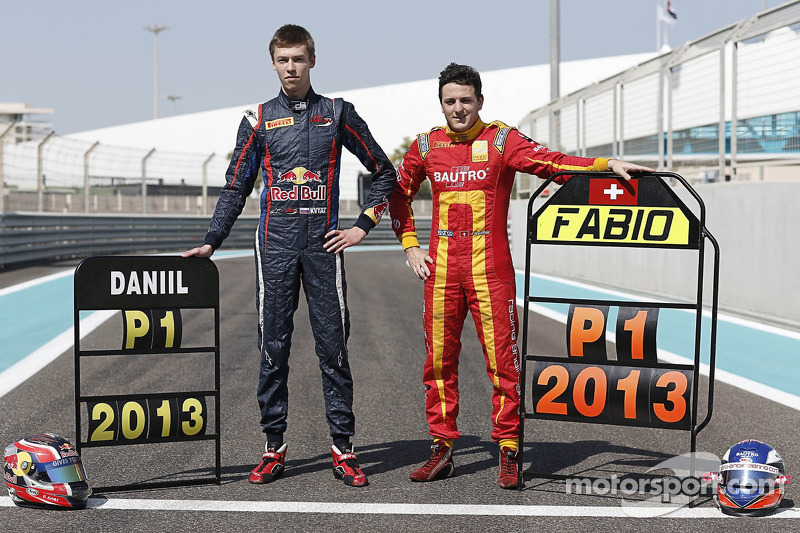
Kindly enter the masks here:
M 514 266 L 506 228 L 516 172 L 547 178 L 562 170 L 651 170 L 604 158 L 571 157 L 551 151 L 502 122 L 486 124 L 480 75 L 449 65 L 439 78 L 447 127 L 417 136 L 398 169 L 390 201 L 392 227 L 409 266 L 425 280 L 424 384 L 426 413 L 434 437 L 430 460 L 411 473 L 433 481 L 454 472 L 453 440 L 460 436 L 458 359 L 461 330 L 472 314 L 492 380 L 492 439 L 500 445 L 500 486 L 518 485 L 520 362 Z M 419 247 L 411 207 L 425 179 L 431 181 L 430 248 Z M 563 183 L 564 178 L 557 178 Z

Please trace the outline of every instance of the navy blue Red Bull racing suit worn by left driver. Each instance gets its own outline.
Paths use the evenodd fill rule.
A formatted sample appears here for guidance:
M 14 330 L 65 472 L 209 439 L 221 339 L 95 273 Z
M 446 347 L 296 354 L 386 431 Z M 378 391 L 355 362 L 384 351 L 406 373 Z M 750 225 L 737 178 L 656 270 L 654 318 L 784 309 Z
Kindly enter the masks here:
M 353 105 L 309 90 L 305 100 L 277 98 L 245 112 L 205 243 L 215 249 L 230 233 L 263 172 L 261 220 L 255 238 L 256 306 L 261 367 L 258 403 L 268 440 L 286 430 L 289 349 L 300 284 L 322 371 L 331 436 L 355 431 L 353 380 L 347 353 L 344 255 L 325 251 L 325 234 L 339 228 L 342 146 L 372 174 L 355 226 L 368 232 L 386 211 L 396 173 Z

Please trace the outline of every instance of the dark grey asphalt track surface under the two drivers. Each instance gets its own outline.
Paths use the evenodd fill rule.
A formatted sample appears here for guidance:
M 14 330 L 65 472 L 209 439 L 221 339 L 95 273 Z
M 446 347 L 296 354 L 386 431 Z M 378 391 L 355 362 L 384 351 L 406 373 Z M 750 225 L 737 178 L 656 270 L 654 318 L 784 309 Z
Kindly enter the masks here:
M 345 487 L 333 478 L 330 443 L 324 419 L 319 369 L 302 301 L 295 318 L 290 372 L 289 443 L 284 479 L 266 486 L 247 482 L 247 474 L 260 457 L 254 389 L 258 358 L 256 314 L 253 304 L 252 258 L 217 263 L 221 280 L 222 332 L 222 484 L 138 490 L 97 495 L 92 507 L 80 512 L 18 509 L 0 499 L 0 523 L 19 524 L 25 531 L 404 531 L 446 529 L 461 531 L 675 531 L 705 529 L 729 531 L 745 523 L 719 518 L 713 504 L 701 499 L 696 515 L 715 518 L 630 518 L 619 513 L 577 517 L 590 508 L 619 509 L 620 497 L 567 494 L 563 482 L 528 479 L 523 491 L 497 486 L 497 449 L 491 442 L 491 386 L 485 363 L 468 320 L 460 363 L 463 437 L 456 444 L 456 476 L 430 484 L 413 483 L 408 472 L 427 459 L 429 439 L 421 385 L 424 350 L 421 330 L 422 284 L 406 267 L 401 253 L 376 251 L 348 253 L 348 299 L 351 311 L 350 352 L 355 379 L 356 451 L 370 486 Z M 43 272 L 40 269 L 39 272 Z M 3 285 L 36 274 L 4 273 Z M 203 318 L 203 317 L 200 317 Z M 564 325 L 542 317 L 536 331 L 537 351 L 561 353 Z M 118 346 L 120 320 L 110 320 L 87 337 L 87 343 Z M 184 343 L 202 336 L 207 326 L 189 316 L 184 323 Z M 199 338 L 199 337 L 198 337 Z M 82 379 L 98 393 L 128 389 L 159 392 L 205 383 L 207 374 L 191 356 L 140 356 L 95 358 L 84 364 Z M 705 384 L 702 385 L 704 387 Z M 701 387 L 701 390 L 702 390 Z M 703 413 L 701 407 L 701 413 Z M 72 351 L 58 357 L 11 393 L 0 398 L 0 443 L 40 431 L 74 439 Z M 721 455 L 744 438 L 758 438 L 777 448 L 789 473 L 800 464 L 798 412 L 724 383 L 717 383 L 714 415 L 698 437 L 698 450 Z M 525 443 L 528 472 L 609 477 L 616 473 L 644 472 L 665 459 L 688 451 L 686 432 L 528 421 Z M 95 484 L 193 475 L 213 464 L 208 443 L 153 444 L 92 448 L 84 461 Z M 795 516 L 793 485 L 784 501 L 784 517 Z M 137 502 L 133 509 L 103 507 L 121 499 Z M 168 510 L 165 500 L 183 500 L 183 510 Z M 152 502 L 152 506 L 138 502 Z M 234 502 L 227 511 L 202 511 L 201 501 Z M 198 502 L 192 506 L 192 502 Z M 235 502 L 287 502 L 286 512 L 236 512 Z M 292 503 L 294 502 L 294 503 Z M 320 504 L 363 504 L 358 512 L 325 512 Z M 386 504 L 388 507 L 380 507 Z M 397 514 L 397 505 L 463 505 L 488 507 L 558 506 L 566 516 L 510 516 L 507 514 Z M 138 506 L 138 508 L 136 508 Z M 305 506 L 305 507 L 304 507 Z M 528 507 L 534 506 L 534 507 Z M 207 507 L 208 508 L 208 507 Z M 212 507 L 213 508 L 213 507 Z M 242 504 L 245 508 L 245 504 Z M 344 506 L 341 507 L 344 511 Z M 348 510 L 353 507 L 347 507 Z M 386 509 L 389 509 L 386 511 Z M 392 509 L 395 512 L 392 512 Z M 448 510 L 458 507 L 447 507 Z M 299 512 L 307 510 L 310 512 Z M 291 511 L 291 512 L 290 512 Z M 691 511 L 691 510 L 690 510 Z M 551 515 L 554 513 L 550 513 Z M 584 513 L 585 514 L 585 513 Z M 746 524 L 759 531 L 791 530 L 797 522 L 781 518 Z

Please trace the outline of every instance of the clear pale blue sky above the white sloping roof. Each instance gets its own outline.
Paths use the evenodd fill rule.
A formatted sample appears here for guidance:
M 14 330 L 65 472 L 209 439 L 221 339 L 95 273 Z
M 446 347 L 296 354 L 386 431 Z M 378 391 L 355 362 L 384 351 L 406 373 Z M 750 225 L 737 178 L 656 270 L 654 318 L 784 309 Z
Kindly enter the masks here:
M 561 0 L 561 59 L 654 51 L 665 0 Z M 673 0 L 675 48 L 781 0 Z M 550 0 L 383 2 L 0 0 L 0 102 L 55 109 L 57 133 L 153 118 L 153 34 L 160 115 L 246 105 L 279 85 L 267 43 L 286 23 L 317 45 L 320 93 L 435 78 L 451 61 L 479 70 L 550 59 Z M 549 84 L 549 80 L 542 80 Z M 174 103 L 167 95 L 179 95 Z M 387 105 L 391 105 L 387 102 Z

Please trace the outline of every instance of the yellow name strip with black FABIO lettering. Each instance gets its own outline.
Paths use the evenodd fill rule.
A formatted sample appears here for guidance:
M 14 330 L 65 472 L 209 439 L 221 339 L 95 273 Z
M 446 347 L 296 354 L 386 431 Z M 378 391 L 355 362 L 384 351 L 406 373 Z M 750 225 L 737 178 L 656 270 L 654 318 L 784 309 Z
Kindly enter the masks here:
M 678 208 L 548 206 L 539 217 L 540 241 L 594 244 L 689 244 L 689 220 Z

